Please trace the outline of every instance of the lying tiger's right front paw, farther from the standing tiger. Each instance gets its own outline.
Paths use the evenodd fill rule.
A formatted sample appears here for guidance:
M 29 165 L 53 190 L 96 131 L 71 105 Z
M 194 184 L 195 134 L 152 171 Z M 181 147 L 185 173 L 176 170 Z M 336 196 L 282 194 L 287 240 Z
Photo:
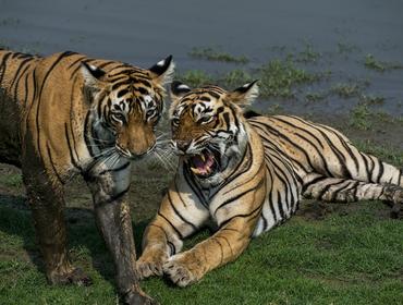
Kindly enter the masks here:
M 163 264 L 163 273 L 179 286 L 186 286 L 197 282 L 203 273 L 199 271 L 200 264 L 190 259 L 185 254 L 174 255 Z

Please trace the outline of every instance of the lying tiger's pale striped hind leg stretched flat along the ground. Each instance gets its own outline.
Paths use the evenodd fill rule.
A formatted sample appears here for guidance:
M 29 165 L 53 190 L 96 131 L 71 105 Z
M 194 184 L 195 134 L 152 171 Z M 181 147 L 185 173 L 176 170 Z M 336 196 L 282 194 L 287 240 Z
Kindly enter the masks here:
M 304 176 L 302 195 L 325 202 L 382 200 L 392 207 L 392 218 L 403 216 L 403 187 L 394 184 L 367 183 L 309 173 Z

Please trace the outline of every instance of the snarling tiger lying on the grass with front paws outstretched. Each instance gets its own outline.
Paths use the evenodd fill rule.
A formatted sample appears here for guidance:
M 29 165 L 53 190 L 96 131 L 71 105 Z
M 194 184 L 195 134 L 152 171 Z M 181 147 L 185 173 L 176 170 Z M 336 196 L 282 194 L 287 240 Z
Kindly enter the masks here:
M 361 152 L 329 126 L 243 113 L 257 94 L 256 82 L 234 91 L 172 84 L 179 167 L 145 231 L 142 278 L 166 273 L 180 286 L 196 282 L 234 260 L 253 236 L 290 218 L 303 197 L 402 204 L 401 170 Z M 181 253 L 183 239 L 207 221 L 218 231 Z

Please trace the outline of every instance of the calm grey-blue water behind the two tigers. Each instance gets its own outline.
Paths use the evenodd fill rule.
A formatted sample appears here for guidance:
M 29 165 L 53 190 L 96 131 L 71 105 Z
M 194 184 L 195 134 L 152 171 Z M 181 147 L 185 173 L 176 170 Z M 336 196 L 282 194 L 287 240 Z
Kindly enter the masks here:
M 363 94 L 384 98 L 378 108 L 402 115 L 403 69 L 381 73 L 364 65 L 368 53 L 403 64 L 402 33 L 400 0 L 0 0 L 0 44 L 44 54 L 69 49 L 147 66 L 172 53 L 180 71 L 220 73 L 254 69 L 309 45 L 320 58 L 302 66 L 331 76 L 297 88 L 297 100 L 257 103 L 265 110 L 278 102 L 296 113 L 349 112 L 357 97 L 304 97 L 339 83 L 365 83 Z M 251 62 L 239 66 L 188 56 L 193 47 L 209 46 Z

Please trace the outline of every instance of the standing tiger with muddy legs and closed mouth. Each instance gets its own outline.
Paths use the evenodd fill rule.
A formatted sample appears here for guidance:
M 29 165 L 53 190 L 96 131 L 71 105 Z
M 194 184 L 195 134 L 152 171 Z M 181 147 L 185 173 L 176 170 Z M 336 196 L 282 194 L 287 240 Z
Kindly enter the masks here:
M 0 50 L 0 161 L 22 169 L 51 283 L 88 284 L 68 257 L 63 185 L 82 174 L 125 302 L 138 286 L 127 204 L 131 160 L 150 152 L 171 57 L 150 69 L 75 52 L 41 58 Z

